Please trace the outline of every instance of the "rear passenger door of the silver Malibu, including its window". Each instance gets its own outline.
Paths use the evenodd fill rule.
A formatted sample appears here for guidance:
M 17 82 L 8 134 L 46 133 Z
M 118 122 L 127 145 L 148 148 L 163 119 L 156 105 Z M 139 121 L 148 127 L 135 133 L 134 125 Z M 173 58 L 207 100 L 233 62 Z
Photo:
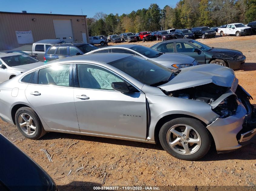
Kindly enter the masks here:
M 36 80 L 28 84 L 25 95 L 51 129 L 79 132 L 71 72 L 70 64 L 42 68 L 35 72 Z

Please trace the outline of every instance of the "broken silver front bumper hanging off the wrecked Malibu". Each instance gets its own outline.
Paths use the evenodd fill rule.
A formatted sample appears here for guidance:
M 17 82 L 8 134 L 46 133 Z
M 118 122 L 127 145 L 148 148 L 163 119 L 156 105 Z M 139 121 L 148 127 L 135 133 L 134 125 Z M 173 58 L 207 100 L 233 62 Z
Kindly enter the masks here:
M 252 110 L 248 107 L 241 103 L 234 115 L 218 118 L 207 126 L 218 153 L 234 151 L 256 140 L 256 118 L 252 119 Z

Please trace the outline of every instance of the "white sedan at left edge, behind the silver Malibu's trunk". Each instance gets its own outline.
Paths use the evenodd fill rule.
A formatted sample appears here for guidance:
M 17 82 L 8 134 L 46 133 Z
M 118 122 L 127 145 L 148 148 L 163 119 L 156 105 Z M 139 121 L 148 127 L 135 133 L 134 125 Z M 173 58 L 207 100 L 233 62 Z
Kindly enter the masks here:
M 0 54 L 0 83 L 42 64 L 44 63 L 25 54 L 2 53 Z

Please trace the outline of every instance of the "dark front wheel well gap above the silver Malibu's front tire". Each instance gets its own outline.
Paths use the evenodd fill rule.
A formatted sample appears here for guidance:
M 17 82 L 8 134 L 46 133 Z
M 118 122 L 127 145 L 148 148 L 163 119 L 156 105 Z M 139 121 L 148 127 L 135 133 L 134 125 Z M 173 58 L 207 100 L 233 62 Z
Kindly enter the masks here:
M 193 118 L 193 119 L 198 119 L 196 117 L 193 116 L 189 116 L 189 115 L 185 115 L 185 114 L 171 114 L 171 115 L 167 115 L 162 117 L 161 119 L 159 119 L 159 121 L 157 122 L 156 126 L 155 126 L 155 132 L 154 132 L 154 137 L 155 137 L 155 142 L 159 142 L 159 131 L 161 129 L 161 127 L 168 121 L 175 119 L 175 118 L 180 118 L 180 117 L 188 117 L 188 118 Z M 198 119 L 199 121 L 201 121 L 200 119 Z M 206 127 L 206 124 L 201 121 L 204 126 Z

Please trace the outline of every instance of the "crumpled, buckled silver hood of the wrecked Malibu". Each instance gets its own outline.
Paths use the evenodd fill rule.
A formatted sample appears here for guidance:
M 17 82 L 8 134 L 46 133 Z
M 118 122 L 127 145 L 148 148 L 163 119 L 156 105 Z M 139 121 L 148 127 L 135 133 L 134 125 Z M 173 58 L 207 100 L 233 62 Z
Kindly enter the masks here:
M 232 87 L 234 81 L 235 75 L 232 69 L 217 64 L 203 64 L 182 68 L 175 78 L 158 87 L 165 91 L 175 91 L 209 83 Z

